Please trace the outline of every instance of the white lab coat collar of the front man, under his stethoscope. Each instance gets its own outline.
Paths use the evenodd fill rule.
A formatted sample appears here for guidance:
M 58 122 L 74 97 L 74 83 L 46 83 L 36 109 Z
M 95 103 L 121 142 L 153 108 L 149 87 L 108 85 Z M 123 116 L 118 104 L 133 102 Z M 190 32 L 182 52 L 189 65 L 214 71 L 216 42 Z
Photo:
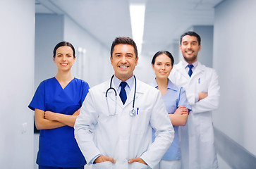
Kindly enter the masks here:
M 111 79 L 109 79 L 104 85 L 104 91 L 103 91 L 104 96 L 106 96 L 106 90 L 109 89 L 110 80 Z M 137 89 L 136 89 L 136 94 L 135 94 L 135 104 L 136 104 L 136 99 L 138 99 L 144 93 L 143 92 L 143 83 L 138 79 L 136 79 L 136 80 L 137 80 Z M 134 80 L 134 83 L 135 83 L 135 80 Z M 133 84 L 133 87 L 130 89 L 130 94 L 127 96 L 127 100 L 126 100 L 125 104 L 123 104 L 123 102 L 121 101 L 121 98 L 120 98 L 113 82 L 112 82 L 112 87 L 116 90 L 116 98 L 115 98 L 113 89 L 109 90 L 108 95 L 107 95 L 108 99 L 112 100 L 112 103 L 114 103 L 113 101 L 116 101 L 116 105 L 121 106 L 121 108 L 125 108 L 126 106 L 130 106 L 130 107 L 133 106 L 133 96 L 134 96 L 135 84 Z

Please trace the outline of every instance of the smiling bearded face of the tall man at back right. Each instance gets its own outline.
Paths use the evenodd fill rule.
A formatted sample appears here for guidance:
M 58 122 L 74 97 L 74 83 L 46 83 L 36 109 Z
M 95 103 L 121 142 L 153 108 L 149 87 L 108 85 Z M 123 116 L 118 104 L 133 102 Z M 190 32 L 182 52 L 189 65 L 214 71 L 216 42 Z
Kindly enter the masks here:
M 197 61 L 197 54 L 201 49 L 201 45 L 198 44 L 197 37 L 185 35 L 182 38 L 180 49 L 184 60 L 192 64 Z

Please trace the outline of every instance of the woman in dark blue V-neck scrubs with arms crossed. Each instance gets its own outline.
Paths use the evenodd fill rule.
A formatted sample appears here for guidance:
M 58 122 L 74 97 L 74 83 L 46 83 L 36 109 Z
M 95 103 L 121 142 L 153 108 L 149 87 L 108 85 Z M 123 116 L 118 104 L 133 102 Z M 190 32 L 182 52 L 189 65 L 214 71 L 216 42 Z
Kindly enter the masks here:
M 75 141 L 73 126 L 89 85 L 71 75 L 75 63 L 71 43 L 57 44 L 53 60 L 57 75 L 39 84 L 28 106 L 35 111 L 35 125 L 40 130 L 37 164 L 39 169 L 82 169 L 85 158 Z

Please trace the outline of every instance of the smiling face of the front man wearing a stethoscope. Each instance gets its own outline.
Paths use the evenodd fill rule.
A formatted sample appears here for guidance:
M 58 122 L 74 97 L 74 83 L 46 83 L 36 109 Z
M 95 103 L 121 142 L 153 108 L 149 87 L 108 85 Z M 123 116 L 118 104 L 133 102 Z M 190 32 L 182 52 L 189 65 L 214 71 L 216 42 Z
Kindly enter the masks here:
M 135 66 L 138 64 L 138 57 L 136 58 L 134 48 L 130 44 L 114 46 L 110 60 L 116 77 L 122 81 L 126 81 L 133 76 Z

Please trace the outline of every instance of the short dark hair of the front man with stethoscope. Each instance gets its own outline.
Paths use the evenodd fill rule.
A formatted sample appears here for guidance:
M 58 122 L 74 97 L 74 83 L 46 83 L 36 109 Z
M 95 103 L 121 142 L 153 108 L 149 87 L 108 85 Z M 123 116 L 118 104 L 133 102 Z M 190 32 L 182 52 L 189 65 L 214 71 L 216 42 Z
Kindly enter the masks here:
M 136 46 L 135 42 L 133 41 L 133 39 L 131 39 L 130 37 L 116 37 L 116 39 L 114 39 L 114 41 L 112 42 L 112 45 L 111 45 L 111 50 L 110 50 L 111 58 L 113 58 L 112 55 L 113 55 L 114 47 L 117 44 L 130 44 L 134 48 L 134 53 L 135 53 L 136 58 L 138 57 L 137 46 Z

